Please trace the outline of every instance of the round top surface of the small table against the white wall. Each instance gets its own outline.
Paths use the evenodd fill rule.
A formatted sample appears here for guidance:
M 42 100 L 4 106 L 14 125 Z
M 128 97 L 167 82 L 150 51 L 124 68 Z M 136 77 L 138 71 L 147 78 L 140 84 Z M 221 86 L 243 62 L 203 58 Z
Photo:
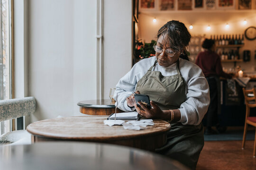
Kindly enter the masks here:
M 77 103 L 80 107 L 88 107 L 88 108 L 115 108 L 115 102 L 112 102 L 110 99 L 102 99 L 102 100 L 88 100 L 81 101 Z

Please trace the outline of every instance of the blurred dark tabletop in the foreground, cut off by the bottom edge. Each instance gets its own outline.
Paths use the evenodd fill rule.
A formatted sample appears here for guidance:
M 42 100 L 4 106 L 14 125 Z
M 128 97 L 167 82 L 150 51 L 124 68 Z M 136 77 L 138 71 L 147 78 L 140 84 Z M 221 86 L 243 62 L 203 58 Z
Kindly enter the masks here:
M 1 170 L 187 170 L 167 157 L 113 144 L 42 142 L 0 147 Z

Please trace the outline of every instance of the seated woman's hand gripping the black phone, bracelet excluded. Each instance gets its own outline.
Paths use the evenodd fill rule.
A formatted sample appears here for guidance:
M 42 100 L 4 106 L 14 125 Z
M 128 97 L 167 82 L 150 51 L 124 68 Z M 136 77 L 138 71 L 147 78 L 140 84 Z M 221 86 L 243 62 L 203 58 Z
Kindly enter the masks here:
M 163 110 L 161 110 L 153 101 L 150 101 L 152 106 L 151 109 L 148 109 L 146 104 L 143 104 L 142 102 L 138 103 L 143 110 L 140 109 L 136 104 L 134 104 L 134 107 L 136 108 L 137 112 L 146 119 L 161 118 L 163 115 Z

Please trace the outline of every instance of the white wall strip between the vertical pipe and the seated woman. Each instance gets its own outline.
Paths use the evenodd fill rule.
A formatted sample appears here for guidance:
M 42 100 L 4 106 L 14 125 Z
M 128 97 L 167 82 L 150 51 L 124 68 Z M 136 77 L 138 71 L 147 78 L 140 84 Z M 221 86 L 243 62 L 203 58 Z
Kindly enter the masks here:
M 132 67 L 132 0 L 104 1 L 104 98 Z

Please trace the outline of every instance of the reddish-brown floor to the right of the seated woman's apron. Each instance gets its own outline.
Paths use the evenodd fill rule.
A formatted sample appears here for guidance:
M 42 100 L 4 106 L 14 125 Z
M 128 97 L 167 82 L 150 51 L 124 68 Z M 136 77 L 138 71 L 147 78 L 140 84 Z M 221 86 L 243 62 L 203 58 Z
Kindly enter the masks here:
M 253 158 L 254 141 L 206 141 L 196 170 L 256 170 Z

